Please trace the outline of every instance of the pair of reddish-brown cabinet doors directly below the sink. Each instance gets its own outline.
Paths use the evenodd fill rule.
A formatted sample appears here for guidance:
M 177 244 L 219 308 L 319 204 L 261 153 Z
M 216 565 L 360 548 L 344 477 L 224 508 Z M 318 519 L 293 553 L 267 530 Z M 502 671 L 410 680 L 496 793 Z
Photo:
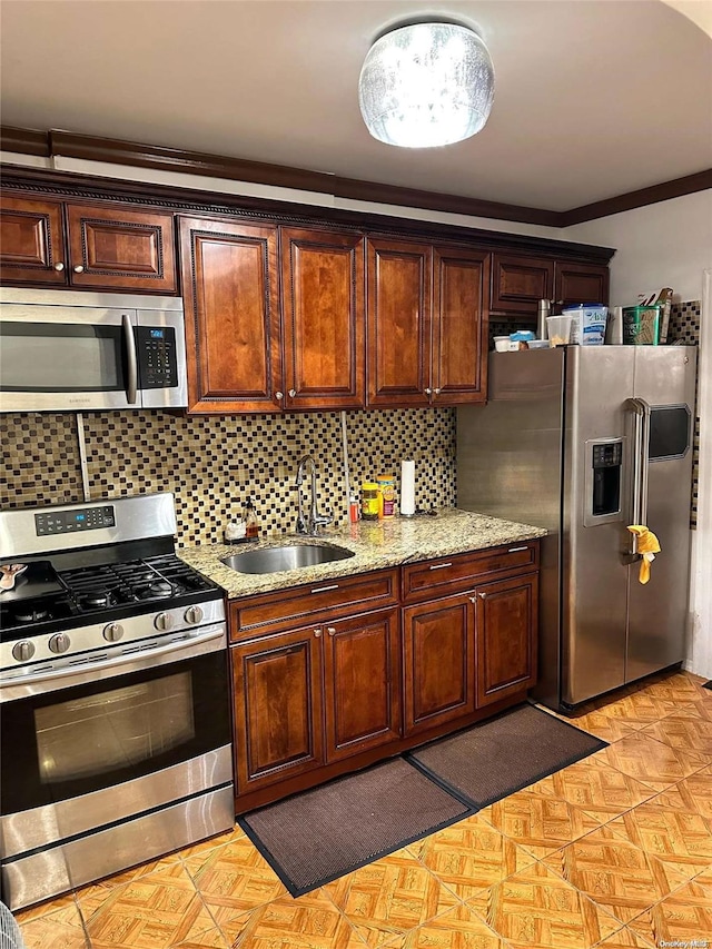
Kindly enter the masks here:
M 400 737 L 397 609 L 230 648 L 238 792 Z

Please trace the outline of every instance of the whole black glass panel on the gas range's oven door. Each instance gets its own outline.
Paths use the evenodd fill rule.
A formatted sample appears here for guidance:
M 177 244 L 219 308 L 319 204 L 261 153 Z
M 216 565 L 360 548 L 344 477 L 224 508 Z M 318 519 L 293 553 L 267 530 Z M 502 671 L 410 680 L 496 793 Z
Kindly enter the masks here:
M 0 709 L 0 814 L 115 788 L 230 743 L 225 650 Z

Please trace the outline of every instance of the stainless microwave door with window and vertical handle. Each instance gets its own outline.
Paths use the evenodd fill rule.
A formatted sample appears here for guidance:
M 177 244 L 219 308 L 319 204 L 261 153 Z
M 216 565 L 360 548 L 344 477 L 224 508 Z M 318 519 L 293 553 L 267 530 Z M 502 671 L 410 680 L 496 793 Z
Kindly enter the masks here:
M 135 309 L 3 304 L 3 412 L 138 408 Z

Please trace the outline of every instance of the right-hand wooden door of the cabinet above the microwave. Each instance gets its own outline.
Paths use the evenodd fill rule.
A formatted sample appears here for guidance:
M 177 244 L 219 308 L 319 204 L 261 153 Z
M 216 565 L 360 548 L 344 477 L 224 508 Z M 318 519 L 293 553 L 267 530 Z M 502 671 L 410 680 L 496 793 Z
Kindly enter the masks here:
M 176 293 L 171 214 L 68 204 L 67 223 L 73 287 Z

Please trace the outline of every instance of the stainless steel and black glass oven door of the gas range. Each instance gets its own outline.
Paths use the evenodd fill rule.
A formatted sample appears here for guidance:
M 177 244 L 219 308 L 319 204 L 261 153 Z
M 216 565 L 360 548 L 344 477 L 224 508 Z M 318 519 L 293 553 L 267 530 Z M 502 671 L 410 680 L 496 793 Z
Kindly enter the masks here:
M 176 644 L 172 659 L 162 646 L 154 658 L 97 662 L 61 673 L 61 689 L 49 674 L 52 691 L 38 683 L 34 694 L 3 701 L 3 860 L 218 787 L 231 798 L 225 625 L 200 633 L 194 645 Z

